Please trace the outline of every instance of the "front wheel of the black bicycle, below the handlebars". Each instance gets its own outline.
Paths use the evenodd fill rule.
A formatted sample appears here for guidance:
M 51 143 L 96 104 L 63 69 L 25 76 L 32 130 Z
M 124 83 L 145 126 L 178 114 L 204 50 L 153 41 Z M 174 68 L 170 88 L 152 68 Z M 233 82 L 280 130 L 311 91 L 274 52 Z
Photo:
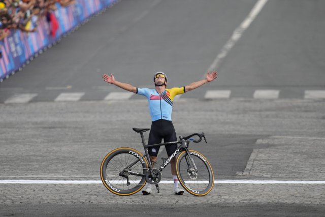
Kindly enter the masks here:
M 207 195 L 214 184 L 211 165 L 200 152 L 189 150 L 189 154 L 183 151 L 177 157 L 176 174 L 178 180 L 188 193 L 195 196 Z

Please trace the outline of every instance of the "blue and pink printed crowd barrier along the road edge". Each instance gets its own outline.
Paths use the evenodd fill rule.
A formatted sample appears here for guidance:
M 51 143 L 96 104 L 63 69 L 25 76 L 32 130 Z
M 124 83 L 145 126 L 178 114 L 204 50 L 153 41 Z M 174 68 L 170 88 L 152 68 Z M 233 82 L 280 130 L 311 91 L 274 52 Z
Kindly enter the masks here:
M 0 41 L 2 56 L 0 58 L 0 82 L 29 63 L 47 48 L 85 23 L 91 16 L 116 3 L 117 0 L 77 0 L 69 7 L 57 4 L 54 14 L 58 21 L 55 35 L 50 34 L 50 23 L 43 17 L 39 20 L 36 32 L 25 33 L 11 30 L 4 40 Z

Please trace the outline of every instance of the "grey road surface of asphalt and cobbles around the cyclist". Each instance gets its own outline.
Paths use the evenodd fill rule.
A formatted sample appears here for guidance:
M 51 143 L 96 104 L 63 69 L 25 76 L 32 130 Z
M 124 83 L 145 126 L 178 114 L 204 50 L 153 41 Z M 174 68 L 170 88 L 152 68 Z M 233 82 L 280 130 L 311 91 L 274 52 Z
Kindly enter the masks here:
M 123 0 L 2 82 L 0 215 L 324 216 L 325 3 L 266 1 L 238 28 L 256 2 Z M 150 87 L 163 71 L 172 87 L 213 66 L 218 79 L 173 108 L 178 135 L 207 135 L 192 148 L 214 169 L 211 193 L 175 196 L 160 184 L 159 194 L 119 197 L 99 182 L 64 183 L 99 181 L 113 148 L 142 151 L 132 127 L 150 127 L 147 102 L 103 73 Z

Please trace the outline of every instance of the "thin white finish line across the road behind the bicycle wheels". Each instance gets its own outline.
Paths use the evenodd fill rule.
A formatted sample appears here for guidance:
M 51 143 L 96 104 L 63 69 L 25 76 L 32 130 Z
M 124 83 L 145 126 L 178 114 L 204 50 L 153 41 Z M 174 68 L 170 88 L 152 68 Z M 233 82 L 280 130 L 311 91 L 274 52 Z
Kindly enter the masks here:
M 126 181 L 124 181 L 126 183 Z M 101 180 L 0 180 L 0 184 L 100 184 Z M 122 183 L 111 181 L 110 183 Z M 171 184 L 173 180 L 161 180 L 159 184 Z M 187 183 L 187 182 L 186 182 Z M 207 183 L 196 181 L 195 183 Z M 325 184 L 325 180 L 214 180 L 215 184 Z

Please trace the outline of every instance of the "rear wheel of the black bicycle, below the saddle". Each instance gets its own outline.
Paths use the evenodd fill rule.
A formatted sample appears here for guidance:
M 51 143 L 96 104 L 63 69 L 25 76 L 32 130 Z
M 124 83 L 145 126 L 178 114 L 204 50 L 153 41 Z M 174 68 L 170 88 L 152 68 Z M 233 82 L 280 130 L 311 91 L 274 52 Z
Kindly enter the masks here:
M 117 148 L 107 154 L 101 164 L 101 179 L 105 187 L 112 193 L 121 196 L 139 192 L 146 184 L 145 176 L 137 176 L 123 169 L 136 162 L 129 171 L 146 174 L 148 163 L 142 154 L 133 148 Z M 121 176 L 124 175 L 123 176 Z M 129 184 L 127 184 L 127 178 Z

